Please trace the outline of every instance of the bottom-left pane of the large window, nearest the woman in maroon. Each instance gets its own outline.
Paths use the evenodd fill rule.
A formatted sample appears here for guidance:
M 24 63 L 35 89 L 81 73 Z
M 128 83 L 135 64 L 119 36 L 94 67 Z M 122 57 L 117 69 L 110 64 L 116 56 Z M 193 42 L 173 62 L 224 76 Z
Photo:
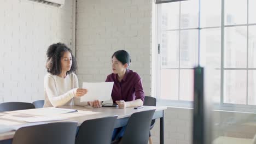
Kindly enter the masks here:
M 160 99 L 178 100 L 178 70 L 161 69 Z

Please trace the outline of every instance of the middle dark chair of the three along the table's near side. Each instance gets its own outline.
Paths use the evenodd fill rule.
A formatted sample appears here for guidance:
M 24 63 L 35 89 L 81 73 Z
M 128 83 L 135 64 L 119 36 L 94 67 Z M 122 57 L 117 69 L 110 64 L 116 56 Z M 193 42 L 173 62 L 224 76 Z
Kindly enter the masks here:
M 103 117 L 84 121 L 79 127 L 75 144 L 110 143 L 117 117 Z

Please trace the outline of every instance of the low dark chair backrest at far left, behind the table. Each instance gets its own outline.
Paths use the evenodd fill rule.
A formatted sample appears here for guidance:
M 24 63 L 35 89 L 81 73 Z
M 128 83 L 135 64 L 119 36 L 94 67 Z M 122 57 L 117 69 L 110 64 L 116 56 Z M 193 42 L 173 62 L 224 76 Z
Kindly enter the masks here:
M 26 110 L 26 109 L 34 109 L 34 105 L 31 103 L 23 103 L 23 102 L 7 102 L 7 103 L 0 104 L 0 112 Z

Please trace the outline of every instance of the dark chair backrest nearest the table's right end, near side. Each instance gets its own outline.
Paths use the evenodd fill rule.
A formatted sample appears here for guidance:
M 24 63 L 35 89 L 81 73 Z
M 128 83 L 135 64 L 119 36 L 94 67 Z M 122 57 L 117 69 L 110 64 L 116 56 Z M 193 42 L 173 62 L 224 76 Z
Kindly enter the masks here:
M 136 112 L 127 123 L 124 136 L 120 143 L 148 143 L 149 127 L 155 110 Z

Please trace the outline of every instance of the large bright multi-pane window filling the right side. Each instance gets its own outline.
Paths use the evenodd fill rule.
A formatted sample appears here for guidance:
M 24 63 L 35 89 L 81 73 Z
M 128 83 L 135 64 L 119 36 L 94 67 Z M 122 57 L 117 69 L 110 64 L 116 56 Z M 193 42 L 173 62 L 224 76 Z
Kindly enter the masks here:
M 256 105 L 255 5 L 256 0 L 158 4 L 158 98 L 193 101 L 193 67 L 200 64 L 215 103 Z

